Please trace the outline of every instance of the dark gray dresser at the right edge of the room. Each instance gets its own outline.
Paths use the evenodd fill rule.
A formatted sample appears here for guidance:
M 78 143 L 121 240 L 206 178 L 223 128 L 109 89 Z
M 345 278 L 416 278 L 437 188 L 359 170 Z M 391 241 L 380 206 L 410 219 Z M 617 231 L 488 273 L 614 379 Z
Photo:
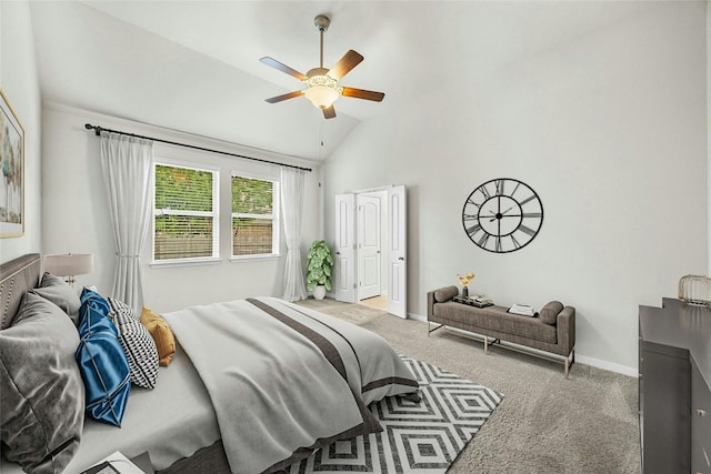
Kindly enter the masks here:
M 711 474 L 711 310 L 640 306 L 642 473 Z

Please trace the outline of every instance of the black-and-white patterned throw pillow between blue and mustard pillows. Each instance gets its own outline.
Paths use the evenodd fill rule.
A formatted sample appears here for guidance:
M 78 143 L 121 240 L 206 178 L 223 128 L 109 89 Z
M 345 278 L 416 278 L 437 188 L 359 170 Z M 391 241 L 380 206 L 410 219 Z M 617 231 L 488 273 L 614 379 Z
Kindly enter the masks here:
M 131 369 L 131 382 L 153 389 L 158 379 L 158 350 L 136 312 L 122 301 L 109 297 L 109 317 L 119 332 L 119 341 Z

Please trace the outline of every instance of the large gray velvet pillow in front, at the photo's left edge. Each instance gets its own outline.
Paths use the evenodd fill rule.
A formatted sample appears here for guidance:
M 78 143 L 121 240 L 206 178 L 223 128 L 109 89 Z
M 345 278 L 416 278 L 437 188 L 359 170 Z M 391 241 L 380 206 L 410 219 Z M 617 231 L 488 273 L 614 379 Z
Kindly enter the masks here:
M 0 438 L 3 455 L 28 473 L 60 473 L 84 421 L 74 360 L 77 327 L 56 304 L 27 292 L 12 326 L 0 331 Z

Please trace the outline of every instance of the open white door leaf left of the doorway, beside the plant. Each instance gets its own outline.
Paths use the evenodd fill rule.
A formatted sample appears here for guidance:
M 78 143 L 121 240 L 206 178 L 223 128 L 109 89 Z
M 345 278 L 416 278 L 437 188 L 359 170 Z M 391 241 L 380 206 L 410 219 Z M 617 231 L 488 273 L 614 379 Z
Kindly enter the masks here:
M 338 301 L 356 303 L 354 194 L 336 196 L 336 243 L 333 246 L 333 290 Z

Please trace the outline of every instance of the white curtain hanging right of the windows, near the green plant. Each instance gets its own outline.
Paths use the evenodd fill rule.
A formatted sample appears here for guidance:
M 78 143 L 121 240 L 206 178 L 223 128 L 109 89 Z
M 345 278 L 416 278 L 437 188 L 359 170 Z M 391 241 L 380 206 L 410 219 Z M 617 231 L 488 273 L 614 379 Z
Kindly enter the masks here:
M 303 215 L 303 194 L 307 180 L 306 171 L 281 167 L 281 209 L 284 216 L 287 236 L 287 265 L 284 268 L 284 294 L 287 301 L 306 300 L 307 286 L 301 266 L 301 215 Z

